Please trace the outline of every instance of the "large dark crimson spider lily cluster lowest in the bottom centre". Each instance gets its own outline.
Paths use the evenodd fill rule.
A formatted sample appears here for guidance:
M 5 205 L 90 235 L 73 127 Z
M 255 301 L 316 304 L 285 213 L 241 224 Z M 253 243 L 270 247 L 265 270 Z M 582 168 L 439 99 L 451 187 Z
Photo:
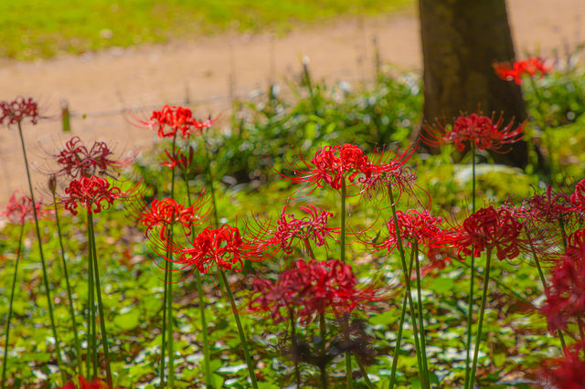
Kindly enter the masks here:
M 351 266 L 336 259 L 324 262 L 298 259 L 276 281 L 255 279 L 249 308 L 271 312 L 276 323 L 284 321 L 293 310 L 295 317 L 308 324 L 317 313 L 331 310 L 341 317 L 380 300 L 381 289 L 358 288 Z

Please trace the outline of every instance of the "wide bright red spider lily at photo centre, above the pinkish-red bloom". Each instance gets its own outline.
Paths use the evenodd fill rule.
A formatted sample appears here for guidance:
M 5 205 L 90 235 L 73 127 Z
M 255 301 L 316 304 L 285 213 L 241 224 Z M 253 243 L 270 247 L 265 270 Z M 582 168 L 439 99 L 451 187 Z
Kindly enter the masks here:
M 374 161 L 370 160 L 363 150 L 353 144 L 343 146 L 325 146 L 314 154 L 311 161 L 299 154 L 303 167 L 288 164 L 293 176 L 278 173 L 282 178 L 293 182 L 306 184 L 305 187 L 325 184 L 335 190 L 340 190 L 342 183 L 347 180 L 348 185 L 356 184 L 356 176 L 363 174 L 360 181 L 367 181 L 372 174 L 389 173 L 408 161 L 412 152 L 406 151 L 397 154 L 394 159 L 384 157 L 383 153 L 375 154 Z

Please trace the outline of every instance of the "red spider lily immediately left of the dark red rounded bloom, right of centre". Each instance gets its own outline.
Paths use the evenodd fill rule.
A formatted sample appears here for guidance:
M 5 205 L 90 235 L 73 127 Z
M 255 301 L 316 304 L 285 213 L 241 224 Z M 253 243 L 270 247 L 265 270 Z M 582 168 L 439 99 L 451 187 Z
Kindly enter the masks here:
M 429 247 L 442 247 L 449 239 L 445 238 L 446 231 L 441 229 L 442 219 L 439 216 L 431 216 L 428 210 L 417 211 L 410 209 L 407 212 L 396 213 L 399 233 L 402 240 L 409 243 L 425 244 Z M 394 221 L 388 222 L 388 238 L 378 247 L 384 247 L 392 251 L 399 243 Z

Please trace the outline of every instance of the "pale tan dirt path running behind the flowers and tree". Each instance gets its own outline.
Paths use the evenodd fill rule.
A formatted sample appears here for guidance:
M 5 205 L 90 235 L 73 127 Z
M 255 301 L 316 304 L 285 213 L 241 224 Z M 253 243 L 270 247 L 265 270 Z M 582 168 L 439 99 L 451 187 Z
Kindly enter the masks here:
M 539 50 L 550 56 L 558 49 L 585 42 L 585 0 L 508 0 L 516 53 Z M 34 96 L 58 114 L 60 100 L 87 119 L 72 119 L 74 135 L 86 142 L 99 138 L 118 143 L 119 150 L 144 149 L 155 142 L 153 133 L 135 129 L 121 115 L 109 111 L 126 107 L 183 103 L 188 89 L 197 114 L 228 110 L 231 92 L 245 95 L 265 90 L 270 79 L 295 77 L 301 59 L 310 58 L 314 77 L 359 82 L 372 79 L 373 38 L 385 63 L 420 69 L 417 11 L 395 16 L 340 20 L 328 26 L 304 28 L 285 37 L 222 35 L 165 45 L 110 49 L 80 57 L 21 63 L 0 60 L 0 100 Z M 95 116 L 92 112 L 101 112 Z M 26 129 L 33 160 L 42 165 L 44 149 L 56 149 L 64 137 L 58 121 Z M 25 189 L 22 154 L 15 129 L 0 129 L 0 200 Z M 45 179 L 36 174 L 39 184 Z M 42 183 L 44 185 L 44 183 Z

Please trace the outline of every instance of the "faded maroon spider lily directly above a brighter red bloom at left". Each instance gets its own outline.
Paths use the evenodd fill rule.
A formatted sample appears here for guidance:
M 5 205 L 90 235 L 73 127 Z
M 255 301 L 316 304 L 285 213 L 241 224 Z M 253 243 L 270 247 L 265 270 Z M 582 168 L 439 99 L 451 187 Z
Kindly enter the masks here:
M 94 142 L 88 150 L 80 137 L 74 136 L 65 143 L 65 149 L 54 157 L 57 163 L 63 166 L 58 173 L 67 174 L 71 178 L 110 173 L 111 169 L 129 166 L 135 158 L 135 155 L 132 155 L 122 160 L 114 160 L 110 158 L 112 154 L 105 142 Z

